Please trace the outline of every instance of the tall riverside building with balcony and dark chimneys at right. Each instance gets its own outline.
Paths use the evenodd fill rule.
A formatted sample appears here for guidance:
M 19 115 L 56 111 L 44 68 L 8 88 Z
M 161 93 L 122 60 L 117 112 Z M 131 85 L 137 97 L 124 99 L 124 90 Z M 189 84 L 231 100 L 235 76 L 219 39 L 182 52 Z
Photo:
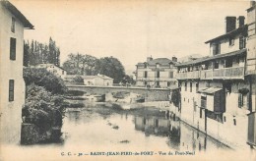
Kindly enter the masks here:
M 181 119 L 231 146 L 256 145 L 255 2 L 226 17 L 225 33 L 206 41 L 210 56 L 177 65 Z

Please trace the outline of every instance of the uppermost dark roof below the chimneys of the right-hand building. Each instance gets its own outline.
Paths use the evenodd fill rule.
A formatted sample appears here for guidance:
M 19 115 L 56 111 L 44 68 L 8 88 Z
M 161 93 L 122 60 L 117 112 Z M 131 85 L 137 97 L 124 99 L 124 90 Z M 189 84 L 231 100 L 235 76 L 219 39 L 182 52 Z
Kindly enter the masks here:
M 213 42 L 213 41 L 217 41 L 217 40 L 221 40 L 221 39 L 224 39 L 224 38 L 228 38 L 230 36 L 234 36 L 234 35 L 237 35 L 239 33 L 246 33 L 247 32 L 247 25 L 245 26 L 242 26 L 242 27 L 238 27 L 236 29 L 233 29 L 227 33 L 224 33 L 223 35 L 220 35 L 218 37 L 215 37 L 213 39 L 210 39 L 208 41 L 206 41 L 205 43 L 209 43 L 209 42 Z

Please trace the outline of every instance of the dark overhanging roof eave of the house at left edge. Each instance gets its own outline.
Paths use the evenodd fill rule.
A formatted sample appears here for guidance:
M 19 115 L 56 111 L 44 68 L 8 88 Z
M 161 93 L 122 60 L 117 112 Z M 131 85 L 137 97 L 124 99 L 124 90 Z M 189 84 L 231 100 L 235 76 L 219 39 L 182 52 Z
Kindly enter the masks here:
M 0 3 L 9 10 L 16 18 L 18 18 L 24 27 L 33 29 L 32 24 L 29 22 L 29 20 L 9 1 L 7 0 L 0 0 Z

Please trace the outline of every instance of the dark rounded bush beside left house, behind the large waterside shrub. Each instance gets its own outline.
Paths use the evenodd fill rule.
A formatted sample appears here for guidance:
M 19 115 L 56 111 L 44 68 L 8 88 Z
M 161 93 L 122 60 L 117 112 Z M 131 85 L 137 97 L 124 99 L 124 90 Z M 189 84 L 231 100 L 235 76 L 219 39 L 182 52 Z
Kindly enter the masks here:
M 64 81 L 45 69 L 24 68 L 24 80 L 26 85 L 34 83 L 43 86 L 53 94 L 63 94 L 67 91 Z

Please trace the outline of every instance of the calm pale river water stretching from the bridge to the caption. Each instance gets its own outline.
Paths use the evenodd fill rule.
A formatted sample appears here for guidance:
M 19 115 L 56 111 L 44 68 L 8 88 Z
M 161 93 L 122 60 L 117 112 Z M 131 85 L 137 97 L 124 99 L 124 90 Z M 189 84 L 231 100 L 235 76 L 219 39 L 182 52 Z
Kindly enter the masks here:
M 158 156 L 160 152 L 194 156 L 217 150 L 232 151 L 185 123 L 166 118 L 156 109 L 154 113 L 158 115 L 147 108 L 142 112 L 122 110 L 105 103 L 85 104 L 84 108 L 66 110 L 61 142 L 5 146 L 1 152 L 14 160 L 62 160 L 78 156 Z

